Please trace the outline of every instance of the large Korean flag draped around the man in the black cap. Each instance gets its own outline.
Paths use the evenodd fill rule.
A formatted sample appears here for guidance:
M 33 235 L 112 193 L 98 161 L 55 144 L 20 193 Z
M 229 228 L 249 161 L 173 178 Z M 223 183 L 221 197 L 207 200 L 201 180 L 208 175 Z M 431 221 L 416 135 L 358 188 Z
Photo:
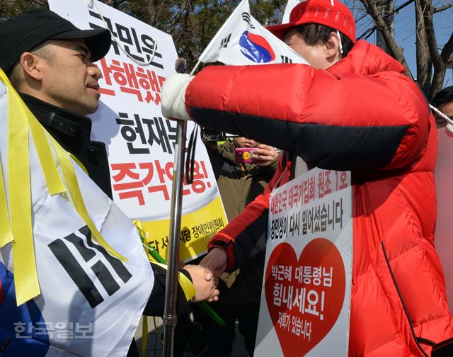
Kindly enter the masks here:
M 0 118 L 1 356 L 125 356 L 154 284 L 137 229 L 1 70 Z

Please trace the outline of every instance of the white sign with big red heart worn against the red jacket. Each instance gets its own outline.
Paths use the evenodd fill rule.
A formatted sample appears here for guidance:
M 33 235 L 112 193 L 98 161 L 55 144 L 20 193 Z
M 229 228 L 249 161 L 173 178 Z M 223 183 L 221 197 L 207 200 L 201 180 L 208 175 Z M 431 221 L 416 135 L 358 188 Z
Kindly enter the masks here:
M 311 169 L 270 198 L 255 356 L 348 356 L 350 172 Z

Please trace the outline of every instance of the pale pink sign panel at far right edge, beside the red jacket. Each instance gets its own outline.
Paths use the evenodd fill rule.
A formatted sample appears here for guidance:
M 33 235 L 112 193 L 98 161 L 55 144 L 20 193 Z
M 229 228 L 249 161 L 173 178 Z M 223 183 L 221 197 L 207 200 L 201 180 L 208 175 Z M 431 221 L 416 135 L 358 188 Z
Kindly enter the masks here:
M 453 134 L 446 128 L 437 129 L 439 147 L 435 169 L 437 192 L 437 220 L 435 246 L 445 274 L 447 299 L 453 312 L 453 222 L 452 222 L 452 177 Z

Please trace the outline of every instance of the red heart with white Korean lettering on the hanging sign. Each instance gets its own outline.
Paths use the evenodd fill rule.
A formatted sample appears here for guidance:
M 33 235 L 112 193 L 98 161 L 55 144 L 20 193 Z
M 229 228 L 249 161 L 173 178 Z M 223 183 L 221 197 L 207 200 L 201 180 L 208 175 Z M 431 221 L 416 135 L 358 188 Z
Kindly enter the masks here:
M 290 244 L 278 244 L 266 268 L 265 295 L 284 356 L 304 356 L 331 331 L 343 307 L 340 251 L 328 239 L 316 238 L 298 260 Z

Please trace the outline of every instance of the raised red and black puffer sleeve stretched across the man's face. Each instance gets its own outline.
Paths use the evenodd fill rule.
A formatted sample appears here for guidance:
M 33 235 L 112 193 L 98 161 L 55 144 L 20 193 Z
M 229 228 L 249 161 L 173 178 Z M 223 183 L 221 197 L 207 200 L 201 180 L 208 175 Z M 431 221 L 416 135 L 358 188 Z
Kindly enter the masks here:
M 310 166 L 401 169 L 423 153 L 430 113 L 413 81 L 388 67 L 207 67 L 188 86 L 186 106 L 204 127 L 294 152 Z

